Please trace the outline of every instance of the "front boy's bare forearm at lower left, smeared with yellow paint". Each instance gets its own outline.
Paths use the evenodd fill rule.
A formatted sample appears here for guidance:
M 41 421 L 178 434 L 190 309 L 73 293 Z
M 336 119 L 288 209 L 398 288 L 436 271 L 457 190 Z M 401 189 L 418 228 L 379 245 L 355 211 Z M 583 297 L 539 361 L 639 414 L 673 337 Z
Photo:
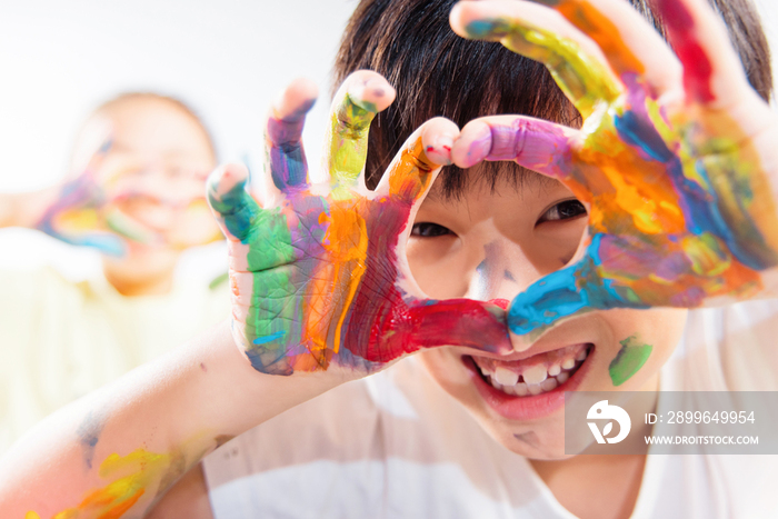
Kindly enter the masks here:
M 0 460 L 0 516 L 87 510 L 92 496 L 108 500 L 96 516 L 140 517 L 220 442 L 337 383 L 257 372 L 225 323 L 41 422 Z

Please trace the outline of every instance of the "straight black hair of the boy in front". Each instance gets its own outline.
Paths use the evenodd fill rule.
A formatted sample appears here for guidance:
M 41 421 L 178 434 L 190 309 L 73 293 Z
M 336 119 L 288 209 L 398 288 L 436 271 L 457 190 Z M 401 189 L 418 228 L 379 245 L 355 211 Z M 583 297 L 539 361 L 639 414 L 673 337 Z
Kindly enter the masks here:
M 630 0 L 664 36 L 651 0 Z M 750 0 L 709 0 L 725 20 L 748 81 L 765 100 L 772 88 L 770 57 L 759 16 Z M 370 129 L 367 183 L 375 187 L 402 142 L 426 120 L 443 116 L 461 128 L 493 113 L 517 113 L 579 126 L 580 114 L 562 94 L 546 67 L 500 43 L 470 41 L 449 27 L 456 0 L 362 0 L 351 16 L 336 59 L 333 84 L 359 69 L 386 77 L 397 100 Z M 487 162 L 481 170 L 492 187 L 500 176 L 513 180 L 517 164 Z M 517 174 L 519 173 L 519 174 Z M 443 169 L 443 193 L 461 192 L 466 176 Z

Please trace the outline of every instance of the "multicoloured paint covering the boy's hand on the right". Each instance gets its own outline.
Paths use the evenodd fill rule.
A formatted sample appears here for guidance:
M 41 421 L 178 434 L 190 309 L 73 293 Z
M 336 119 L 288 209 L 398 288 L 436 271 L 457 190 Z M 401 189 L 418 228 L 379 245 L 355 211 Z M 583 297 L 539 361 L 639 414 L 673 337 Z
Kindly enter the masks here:
M 687 110 L 668 113 L 606 14 L 586 0 L 550 4 L 607 51 L 618 78 L 575 41 L 521 20 L 476 20 L 467 28 L 545 62 L 585 117 L 580 141 L 550 123 L 517 119 L 485 129 L 469 150 L 552 174 L 590 208 L 585 258 L 519 295 L 511 330 L 539 335 L 591 309 L 690 308 L 755 295 L 759 271 L 778 265 L 778 216 L 745 132 L 721 110 L 699 104 L 712 99 L 711 68 L 686 7 L 659 2 L 692 92 Z M 678 10 L 682 16 L 674 18 Z

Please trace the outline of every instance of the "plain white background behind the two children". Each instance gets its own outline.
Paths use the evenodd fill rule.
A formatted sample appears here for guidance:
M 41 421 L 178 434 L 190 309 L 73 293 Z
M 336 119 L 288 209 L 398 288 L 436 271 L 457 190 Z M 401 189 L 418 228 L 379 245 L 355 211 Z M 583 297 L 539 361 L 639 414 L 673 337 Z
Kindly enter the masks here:
M 357 0 L 0 0 L 0 191 L 38 189 L 64 173 L 73 133 L 102 101 L 157 91 L 191 104 L 220 160 L 261 163 L 270 100 L 308 76 L 321 99 L 308 119 L 318 164 L 329 71 Z M 758 0 L 778 49 L 776 0 Z M 778 54 L 778 51 L 776 52 Z M 774 60 L 778 73 L 778 62 Z M 188 273 L 221 269 L 219 246 L 192 251 Z M 97 254 L 34 231 L 0 231 L 0 268 L 54 265 L 72 278 Z

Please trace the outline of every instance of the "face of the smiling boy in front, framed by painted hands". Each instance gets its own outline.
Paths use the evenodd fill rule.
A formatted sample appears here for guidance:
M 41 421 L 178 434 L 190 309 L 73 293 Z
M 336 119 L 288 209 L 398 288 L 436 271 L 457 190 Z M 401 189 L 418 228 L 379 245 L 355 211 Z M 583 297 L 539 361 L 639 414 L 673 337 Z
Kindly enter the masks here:
M 475 170 L 468 174 L 478 178 Z M 493 190 L 470 182 L 458 199 L 442 197 L 438 182 L 416 216 L 408 261 L 432 298 L 510 301 L 570 261 L 586 224 L 572 193 L 537 173 L 516 184 L 498 181 Z M 556 459 L 565 456 L 563 391 L 656 389 L 685 318 L 686 310 L 677 309 L 596 311 L 551 328 L 509 357 L 456 347 L 419 355 L 500 443 L 530 458 Z M 651 347 L 641 350 L 650 353 L 635 373 L 615 361 L 625 345 Z

